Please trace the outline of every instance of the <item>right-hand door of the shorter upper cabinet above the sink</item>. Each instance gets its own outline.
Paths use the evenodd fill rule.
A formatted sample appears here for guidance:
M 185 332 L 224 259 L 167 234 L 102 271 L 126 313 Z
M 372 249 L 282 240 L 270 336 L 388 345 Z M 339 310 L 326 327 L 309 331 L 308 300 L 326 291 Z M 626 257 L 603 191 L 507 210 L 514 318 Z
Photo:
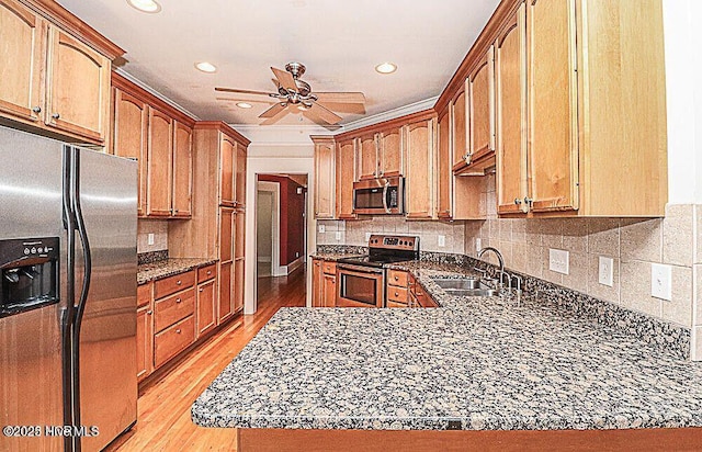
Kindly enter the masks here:
M 468 160 L 477 162 L 495 152 L 495 72 L 494 47 L 468 76 L 468 124 L 471 145 Z

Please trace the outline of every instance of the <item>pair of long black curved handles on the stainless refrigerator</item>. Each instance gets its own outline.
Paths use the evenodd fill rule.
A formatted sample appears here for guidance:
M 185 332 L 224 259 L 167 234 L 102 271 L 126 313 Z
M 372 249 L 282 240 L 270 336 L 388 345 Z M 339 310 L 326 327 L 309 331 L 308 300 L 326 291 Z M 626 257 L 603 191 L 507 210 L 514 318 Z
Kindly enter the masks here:
M 86 301 L 88 300 L 88 291 L 90 290 L 90 279 L 92 275 L 92 258 L 90 255 L 90 241 L 88 240 L 88 231 L 86 230 L 86 222 L 83 219 L 80 206 L 80 150 L 71 148 L 72 155 L 72 187 L 71 187 L 71 205 L 76 216 L 76 226 L 78 237 L 83 252 L 83 282 L 76 305 L 73 319 L 73 337 L 72 337 L 72 361 L 73 361 L 73 422 L 79 426 L 80 416 L 80 327 L 86 312 Z M 73 450 L 80 451 L 80 437 L 75 438 Z

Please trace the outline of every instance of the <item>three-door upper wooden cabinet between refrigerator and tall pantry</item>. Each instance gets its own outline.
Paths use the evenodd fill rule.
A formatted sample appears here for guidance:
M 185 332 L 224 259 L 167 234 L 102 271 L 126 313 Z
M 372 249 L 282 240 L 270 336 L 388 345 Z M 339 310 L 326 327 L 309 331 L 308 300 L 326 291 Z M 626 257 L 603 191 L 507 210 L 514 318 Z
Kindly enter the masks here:
M 139 161 L 139 216 L 192 215 L 194 121 L 113 74 L 112 152 Z

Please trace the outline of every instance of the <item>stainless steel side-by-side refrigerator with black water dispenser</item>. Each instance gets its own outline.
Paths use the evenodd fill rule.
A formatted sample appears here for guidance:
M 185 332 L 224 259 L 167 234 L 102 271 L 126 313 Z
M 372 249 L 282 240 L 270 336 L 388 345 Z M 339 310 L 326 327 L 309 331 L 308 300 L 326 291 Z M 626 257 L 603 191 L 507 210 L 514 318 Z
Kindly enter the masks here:
M 2 451 L 97 451 L 136 422 L 136 172 L 0 126 Z

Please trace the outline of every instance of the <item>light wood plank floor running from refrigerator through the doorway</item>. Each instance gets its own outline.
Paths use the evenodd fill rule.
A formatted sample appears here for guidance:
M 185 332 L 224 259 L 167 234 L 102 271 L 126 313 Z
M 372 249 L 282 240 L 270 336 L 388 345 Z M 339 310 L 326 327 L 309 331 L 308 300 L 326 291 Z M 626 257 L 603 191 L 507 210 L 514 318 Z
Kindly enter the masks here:
M 258 281 L 259 308 L 207 340 L 139 395 L 137 423 L 109 451 L 234 451 L 235 429 L 207 429 L 190 419 L 190 407 L 282 306 L 305 305 L 305 272 Z

